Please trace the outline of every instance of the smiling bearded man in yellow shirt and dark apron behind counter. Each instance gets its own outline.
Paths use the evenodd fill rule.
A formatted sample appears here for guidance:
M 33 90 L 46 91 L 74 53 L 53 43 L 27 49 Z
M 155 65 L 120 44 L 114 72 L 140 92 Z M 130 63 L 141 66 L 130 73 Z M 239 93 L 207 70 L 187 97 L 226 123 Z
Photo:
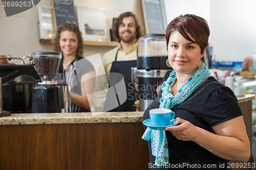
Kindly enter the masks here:
M 96 79 L 95 91 L 101 91 L 94 96 L 94 107 L 96 111 L 135 111 L 134 102 L 136 101 L 136 90 L 131 82 L 131 67 L 137 67 L 137 48 L 138 39 L 141 37 L 141 29 L 138 19 L 132 12 L 125 12 L 115 19 L 113 24 L 113 36 L 119 45 L 112 50 L 106 52 L 102 57 L 105 72 L 109 78 L 109 83 L 103 79 Z M 111 73 L 117 72 L 123 76 L 127 99 L 124 103 L 120 102 L 119 106 L 109 110 L 107 102 L 102 102 L 103 99 L 111 101 L 113 95 L 102 93 L 100 89 L 106 89 L 106 84 L 110 87 L 115 85 L 117 79 Z M 124 89 L 124 87 L 123 87 Z M 115 90 L 116 91 L 116 90 Z M 106 97 L 104 97 L 104 95 Z M 115 96 L 114 96 L 115 97 Z M 118 94 L 116 92 L 116 97 Z M 118 100 L 118 99 L 117 99 Z M 103 110 L 102 110 L 103 109 Z

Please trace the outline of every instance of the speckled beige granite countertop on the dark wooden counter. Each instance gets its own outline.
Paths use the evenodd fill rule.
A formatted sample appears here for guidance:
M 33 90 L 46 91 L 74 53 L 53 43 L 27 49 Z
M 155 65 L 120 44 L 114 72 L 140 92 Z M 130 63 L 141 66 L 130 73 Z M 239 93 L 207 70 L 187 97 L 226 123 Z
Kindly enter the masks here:
M 255 99 L 254 94 L 238 96 L 238 102 Z M 0 125 L 84 124 L 84 123 L 136 123 L 142 122 L 141 112 L 92 113 L 24 113 L 0 117 Z

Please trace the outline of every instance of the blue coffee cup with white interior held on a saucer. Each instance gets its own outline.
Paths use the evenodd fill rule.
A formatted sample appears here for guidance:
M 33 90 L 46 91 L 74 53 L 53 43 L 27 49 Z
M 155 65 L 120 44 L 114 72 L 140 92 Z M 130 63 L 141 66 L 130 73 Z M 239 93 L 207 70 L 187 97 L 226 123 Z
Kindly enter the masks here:
M 174 119 L 174 117 L 175 112 L 170 109 L 159 108 L 150 110 L 150 119 L 155 126 L 166 126 Z

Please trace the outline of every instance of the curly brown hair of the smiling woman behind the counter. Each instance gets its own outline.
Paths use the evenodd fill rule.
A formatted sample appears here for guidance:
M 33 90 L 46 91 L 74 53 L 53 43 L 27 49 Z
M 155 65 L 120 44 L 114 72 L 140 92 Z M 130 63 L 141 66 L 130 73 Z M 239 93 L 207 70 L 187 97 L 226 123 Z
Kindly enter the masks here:
M 82 57 L 83 56 L 83 40 L 82 40 L 82 33 L 80 32 L 79 28 L 75 23 L 72 22 L 65 22 L 62 23 L 56 33 L 56 37 L 54 39 L 54 51 L 61 52 L 60 46 L 59 46 L 59 38 L 60 38 L 60 33 L 62 31 L 70 31 L 74 32 L 77 36 L 78 39 L 78 47 L 76 50 L 76 56 L 77 57 Z

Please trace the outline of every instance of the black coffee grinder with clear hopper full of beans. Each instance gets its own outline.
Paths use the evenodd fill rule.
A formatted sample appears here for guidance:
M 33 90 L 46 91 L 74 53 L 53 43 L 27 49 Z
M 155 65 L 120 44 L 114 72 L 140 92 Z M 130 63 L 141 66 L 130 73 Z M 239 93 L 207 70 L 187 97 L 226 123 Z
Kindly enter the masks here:
M 61 113 L 64 110 L 63 88 L 53 81 L 61 53 L 34 52 L 33 61 L 41 82 L 33 90 L 32 113 Z

